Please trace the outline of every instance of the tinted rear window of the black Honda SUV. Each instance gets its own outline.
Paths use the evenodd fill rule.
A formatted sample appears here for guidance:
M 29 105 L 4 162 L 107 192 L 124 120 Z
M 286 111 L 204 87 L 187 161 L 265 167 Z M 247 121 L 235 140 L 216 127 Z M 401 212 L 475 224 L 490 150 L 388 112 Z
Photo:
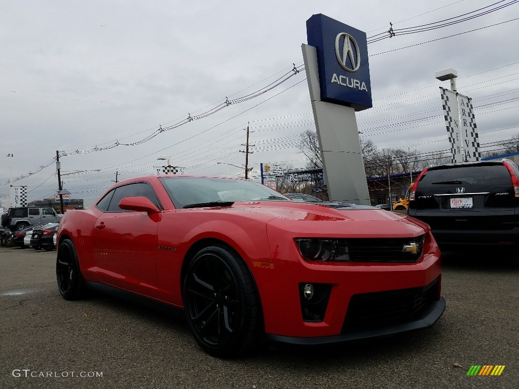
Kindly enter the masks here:
M 456 166 L 429 170 L 422 176 L 419 189 L 435 185 L 511 185 L 510 173 L 504 165 Z

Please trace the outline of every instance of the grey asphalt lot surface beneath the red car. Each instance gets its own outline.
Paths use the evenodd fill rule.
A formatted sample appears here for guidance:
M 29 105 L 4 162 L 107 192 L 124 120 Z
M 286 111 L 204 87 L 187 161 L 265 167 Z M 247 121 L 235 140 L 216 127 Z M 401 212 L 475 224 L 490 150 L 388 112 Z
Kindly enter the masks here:
M 444 253 L 430 329 L 328 349 L 203 353 L 181 318 L 108 296 L 63 300 L 56 252 L 0 247 L 0 388 L 517 388 L 519 254 Z M 472 365 L 506 365 L 470 377 Z

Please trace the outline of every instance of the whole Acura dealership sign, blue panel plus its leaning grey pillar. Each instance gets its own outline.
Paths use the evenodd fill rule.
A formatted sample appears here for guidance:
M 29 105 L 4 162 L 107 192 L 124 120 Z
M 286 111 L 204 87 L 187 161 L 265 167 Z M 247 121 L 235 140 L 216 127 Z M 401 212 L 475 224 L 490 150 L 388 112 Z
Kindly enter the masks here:
M 365 34 L 321 14 L 307 33 L 318 46 L 302 50 L 329 198 L 371 205 L 355 117 L 372 106 Z

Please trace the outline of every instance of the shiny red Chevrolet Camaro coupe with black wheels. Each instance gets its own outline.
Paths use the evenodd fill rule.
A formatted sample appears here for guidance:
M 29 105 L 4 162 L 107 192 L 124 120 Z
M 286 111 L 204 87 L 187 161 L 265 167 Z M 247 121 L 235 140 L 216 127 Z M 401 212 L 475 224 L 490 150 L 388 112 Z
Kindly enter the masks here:
M 221 357 L 261 337 L 325 344 L 425 328 L 445 309 L 428 225 L 234 178 L 113 185 L 65 213 L 56 273 L 65 299 L 102 288 L 183 309 L 195 340 Z

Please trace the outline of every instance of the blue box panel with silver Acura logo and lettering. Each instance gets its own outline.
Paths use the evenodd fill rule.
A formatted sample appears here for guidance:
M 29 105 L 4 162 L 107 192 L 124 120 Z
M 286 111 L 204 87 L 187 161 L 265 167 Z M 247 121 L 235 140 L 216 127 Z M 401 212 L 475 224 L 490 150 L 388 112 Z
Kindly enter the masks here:
M 308 45 L 317 49 L 321 100 L 355 110 L 371 108 L 366 33 L 322 13 L 306 21 Z

